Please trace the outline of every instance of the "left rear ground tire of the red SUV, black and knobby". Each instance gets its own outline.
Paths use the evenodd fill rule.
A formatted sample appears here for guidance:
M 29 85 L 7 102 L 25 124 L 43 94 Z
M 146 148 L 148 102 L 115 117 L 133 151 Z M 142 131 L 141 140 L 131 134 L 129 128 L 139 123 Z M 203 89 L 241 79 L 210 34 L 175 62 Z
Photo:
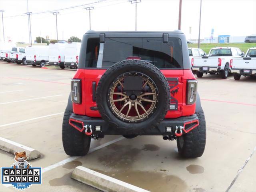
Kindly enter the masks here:
M 63 148 L 67 155 L 84 156 L 90 149 L 91 138 L 68 123 L 71 113 L 72 111 L 66 108 L 62 122 Z

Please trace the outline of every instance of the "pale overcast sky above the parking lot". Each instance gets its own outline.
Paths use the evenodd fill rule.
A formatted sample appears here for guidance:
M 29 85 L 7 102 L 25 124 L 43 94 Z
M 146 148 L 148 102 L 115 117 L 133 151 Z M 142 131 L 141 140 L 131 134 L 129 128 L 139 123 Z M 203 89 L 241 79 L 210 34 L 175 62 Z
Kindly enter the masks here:
M 96 3 L 94 3 L 96 2 Z M 94 4 L 90 4 L 94 3 Z M 29 42 L 28 17 L 32 12 L 32 40 L 36 36 L 56 39 L 55 16 L 46 12 L 90 4 L 92 30 L 135 30 L 135 4 L 127 0 L 0 0 L 4 10 L 4 33 L 13 42 Z M 89 30 L 89 11 L 80 6 L 59 10 L 58 39 L 82 35 Z M 170 31 L 178 29 L 179 0 L 142 0 L 137 4 L 137 30 Z M 187 39 L 198 38 L 200 0 L 182 0 L 181 30 Z M 192 33 L 189 33 L 189 28 Z M 202 0 L 201 38 L 214 36 L 248 36 L 256 34 L 256 0 Z M 3 40 L 2 17 L 0 40 Z

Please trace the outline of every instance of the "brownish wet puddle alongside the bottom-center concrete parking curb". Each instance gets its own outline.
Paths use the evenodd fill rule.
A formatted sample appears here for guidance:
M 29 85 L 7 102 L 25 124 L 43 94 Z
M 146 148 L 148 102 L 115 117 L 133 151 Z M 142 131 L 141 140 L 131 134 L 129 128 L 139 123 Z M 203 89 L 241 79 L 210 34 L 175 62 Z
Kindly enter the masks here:
M 149 191 L 188 191 L 188 186 L 186 185 L 186 182 L 184 180 L 174 175 L 164 174 L 163 172 L 158 173 L 139 170 L 104 172 L 102 170 L 93 170 Z

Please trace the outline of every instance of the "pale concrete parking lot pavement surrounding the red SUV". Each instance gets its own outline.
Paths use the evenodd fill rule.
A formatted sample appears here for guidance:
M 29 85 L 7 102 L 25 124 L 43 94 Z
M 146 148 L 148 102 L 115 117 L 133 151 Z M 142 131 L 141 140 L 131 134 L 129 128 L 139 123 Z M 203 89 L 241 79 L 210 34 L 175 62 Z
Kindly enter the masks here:
M 61 129 L 75 72 L 0 62 L 0 136 L 42 154 L 29 162 L 42 167 L 42 184 L 28 191 L 97 191 L 70 178 L 79 165 L 154 192 L 256 191 L 255 78 L 197 79 L 207 125 L 200 158 L 180 158 L 176 142 L 161 136 L 105 136 L 86 156 L 70 158 Z M 1 167 L 14 163 L 13 154 L 0 150 L 0 157 Z

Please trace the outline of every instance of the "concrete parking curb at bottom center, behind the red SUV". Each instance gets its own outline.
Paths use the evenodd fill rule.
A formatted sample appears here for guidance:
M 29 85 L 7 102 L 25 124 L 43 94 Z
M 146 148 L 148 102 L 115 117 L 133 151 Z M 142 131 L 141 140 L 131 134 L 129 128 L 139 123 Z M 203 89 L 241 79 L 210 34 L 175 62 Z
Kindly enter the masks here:
M 104 192 L 149 192 L 83 166 L 76 167 L 71 178 Z

